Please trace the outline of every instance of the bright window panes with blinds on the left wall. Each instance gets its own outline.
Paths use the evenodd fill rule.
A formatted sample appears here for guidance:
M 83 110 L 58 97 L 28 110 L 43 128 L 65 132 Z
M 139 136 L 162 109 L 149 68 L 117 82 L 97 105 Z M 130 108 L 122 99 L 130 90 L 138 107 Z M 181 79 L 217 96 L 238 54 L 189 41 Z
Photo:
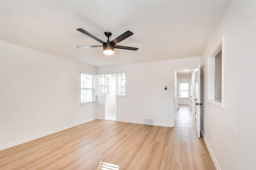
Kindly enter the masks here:
M 81 104 L 95 102 L 95 76 L 81 73 Z

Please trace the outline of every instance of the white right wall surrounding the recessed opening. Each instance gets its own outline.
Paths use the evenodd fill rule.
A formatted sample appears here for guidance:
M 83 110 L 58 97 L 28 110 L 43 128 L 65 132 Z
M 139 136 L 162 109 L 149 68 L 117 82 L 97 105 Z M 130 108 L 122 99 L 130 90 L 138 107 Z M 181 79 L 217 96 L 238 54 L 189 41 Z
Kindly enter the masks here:
M 224 108 L 207 102 L 208 57 L 224 34 Z M 222 170 L 255 170 L 256 1 L 233 0 L 204 53 L 204 137 Z M 214 143 L 212 140 L 214 135 Z

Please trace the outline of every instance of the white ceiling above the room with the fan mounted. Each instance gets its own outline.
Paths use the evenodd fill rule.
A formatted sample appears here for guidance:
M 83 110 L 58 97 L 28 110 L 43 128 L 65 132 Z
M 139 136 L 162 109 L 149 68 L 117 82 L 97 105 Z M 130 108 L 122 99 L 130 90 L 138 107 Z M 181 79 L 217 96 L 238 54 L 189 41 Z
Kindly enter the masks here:
M 229 0 L 0 0 L 0 39 L 93 66 L 200 56 Z M 110 40 L 134 35 L 107 56 L 83 28 Z M 163 53 L 160 50 L 164 49 Z

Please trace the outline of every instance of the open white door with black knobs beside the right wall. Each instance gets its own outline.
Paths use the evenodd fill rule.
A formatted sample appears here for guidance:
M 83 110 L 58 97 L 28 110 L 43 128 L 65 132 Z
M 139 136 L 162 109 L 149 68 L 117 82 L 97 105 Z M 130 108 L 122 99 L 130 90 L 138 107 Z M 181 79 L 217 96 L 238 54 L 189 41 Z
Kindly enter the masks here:
M 200 64 L 198 68 L 195 69 L 195 100 L 196 100 L 196 131 L 197 135 L 200 138 L 200 107 L 202 105 L 200 95 L 201 95 L 201 86 L 200 86 Z

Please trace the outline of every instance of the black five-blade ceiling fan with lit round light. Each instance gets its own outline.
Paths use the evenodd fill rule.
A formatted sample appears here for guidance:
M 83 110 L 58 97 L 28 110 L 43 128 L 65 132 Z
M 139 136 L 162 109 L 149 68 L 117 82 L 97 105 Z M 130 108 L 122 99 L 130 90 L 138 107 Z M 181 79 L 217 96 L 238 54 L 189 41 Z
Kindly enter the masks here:
M 92 35 L 91 33 L 89 33 L 88 31 L 86 31 L 86 30 L 84 30 L 82 28 L 78 28 L 76 30 L 80 31 L 81 33 L 83 33 L 83 34 L 91 37 L 92 39 L 95 39 L 96 41 L 102 43 L 102 45 L 77 46 L 78 48 L 92 48 L 92 47 L 102 47 L 103 46 L 103 52 L 105 54 L 107 54 L 107 55 L 114 54 L 114 48 L 116 48 L 116 49 L 134 50 L 134 51 L 138 50 L 138 48 L 134 48 L 134 47 L 126 47 L 126 46 L 116 45 L 120 41 L 123 41 L 124 39 L 126 39 L 126 38 L 130 37 L 131 35 L 133 35 L 133 33 L 131 31 L 126 31 L 125 33 L 123 33 L 122 35 L 119 35 L 118 37 L 116 37 L 112 41 L 109 40 L 109 37 L 112 35 L 112 33 L 104 32 L 106 37 L 108 37 L 108 40 L 106 42 L 104 42 L 101 39 L 99 39 L 98 37 Z

